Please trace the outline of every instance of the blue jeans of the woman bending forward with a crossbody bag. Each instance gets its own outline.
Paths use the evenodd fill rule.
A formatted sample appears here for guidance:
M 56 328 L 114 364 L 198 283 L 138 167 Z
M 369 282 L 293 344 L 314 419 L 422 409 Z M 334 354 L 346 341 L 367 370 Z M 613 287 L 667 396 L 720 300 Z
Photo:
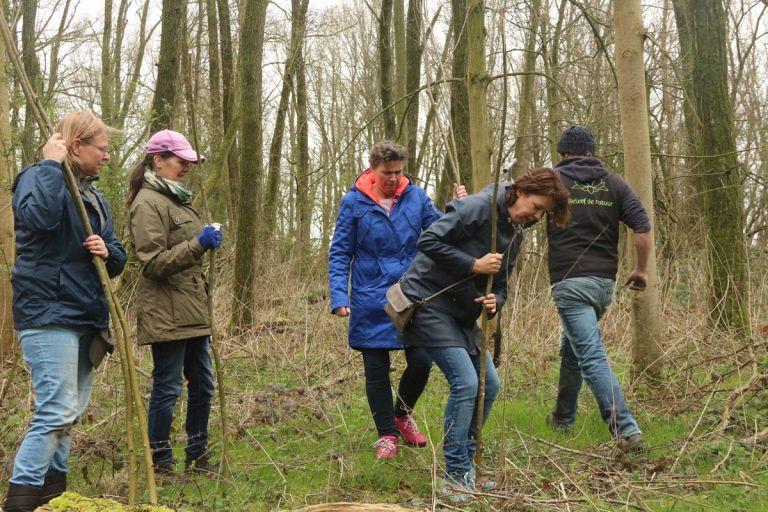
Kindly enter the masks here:
M 477 387 L 480 354 L 470 355 L 463 347 L 424 347 L 451 387 L 445 406 L 443 454 L 445 472 L 459 480 L 472 469 L 477 427 Z M 486 354 L 485 404 L 483 420 L 499 393 L 499 376 L 490 354 Z

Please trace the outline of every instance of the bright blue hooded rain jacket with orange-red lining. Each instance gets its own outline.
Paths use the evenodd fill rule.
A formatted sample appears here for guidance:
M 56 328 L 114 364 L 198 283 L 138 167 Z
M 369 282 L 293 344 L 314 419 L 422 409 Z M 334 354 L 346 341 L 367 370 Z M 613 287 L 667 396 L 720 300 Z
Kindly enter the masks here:
M 402 179 L 390 212 L 374 199 L 375 175 L 370 169 L 341 200 L 329 252 L 331 311 L 352 309 L 352 348 L 404 348 L 384 312 L 386 291 L 416 256 L 421 232 L 443 214 L 421 187 L 405 175 Z

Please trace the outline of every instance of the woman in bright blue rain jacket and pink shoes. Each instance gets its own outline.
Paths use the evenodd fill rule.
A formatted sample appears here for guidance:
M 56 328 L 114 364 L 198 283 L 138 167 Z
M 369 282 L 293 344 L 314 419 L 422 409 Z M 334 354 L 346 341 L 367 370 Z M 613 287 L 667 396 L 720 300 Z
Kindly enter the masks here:
M 379 434 L 377 459 L 397 455 L 398 434 L 406 444 L 426 445 L 411 411 L 432 360 L 421 348 L 397 343 L 395 326 L 384 312 L 387 288 L 416 256 L 419 235 L 442 216 L 424 189 L 403 174 L 406 158 L 399 144 L 373 146 L 370 168 L 341 200 L 329 255 L 331 311 L 350 317 L 349 346 L 363 356 L 365 391 Z M 455 187 L 454 197 L 465 195 L 464 187 Z M 393 406 L 389 351 L 402 349 L 407 366 Z

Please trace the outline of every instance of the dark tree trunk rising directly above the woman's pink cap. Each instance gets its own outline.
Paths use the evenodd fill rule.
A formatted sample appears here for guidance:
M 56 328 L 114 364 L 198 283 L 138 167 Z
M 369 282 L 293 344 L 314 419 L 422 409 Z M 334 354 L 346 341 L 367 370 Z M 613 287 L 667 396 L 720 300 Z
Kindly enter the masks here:
M 160 61 L 157 65 L 157 83 L 152 100 L 152 133 L 171 128 L 178 110 L 178 91 L 181 81 L 181 59 L 184 58 L 184 39 L 187 19 L 185 0 L 163 0 Z

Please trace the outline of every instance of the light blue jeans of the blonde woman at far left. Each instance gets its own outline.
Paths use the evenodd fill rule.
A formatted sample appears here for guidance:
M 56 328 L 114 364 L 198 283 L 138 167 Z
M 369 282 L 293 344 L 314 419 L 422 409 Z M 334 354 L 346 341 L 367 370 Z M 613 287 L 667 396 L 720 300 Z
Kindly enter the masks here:
M 67 472 L 72 425 L 88 405 L 93 388 L 88 350 L 96 331 L 51 325 L 17 334 L 32 377 L 35 412 L 10 482 L 42 487 L 49 470 Z

